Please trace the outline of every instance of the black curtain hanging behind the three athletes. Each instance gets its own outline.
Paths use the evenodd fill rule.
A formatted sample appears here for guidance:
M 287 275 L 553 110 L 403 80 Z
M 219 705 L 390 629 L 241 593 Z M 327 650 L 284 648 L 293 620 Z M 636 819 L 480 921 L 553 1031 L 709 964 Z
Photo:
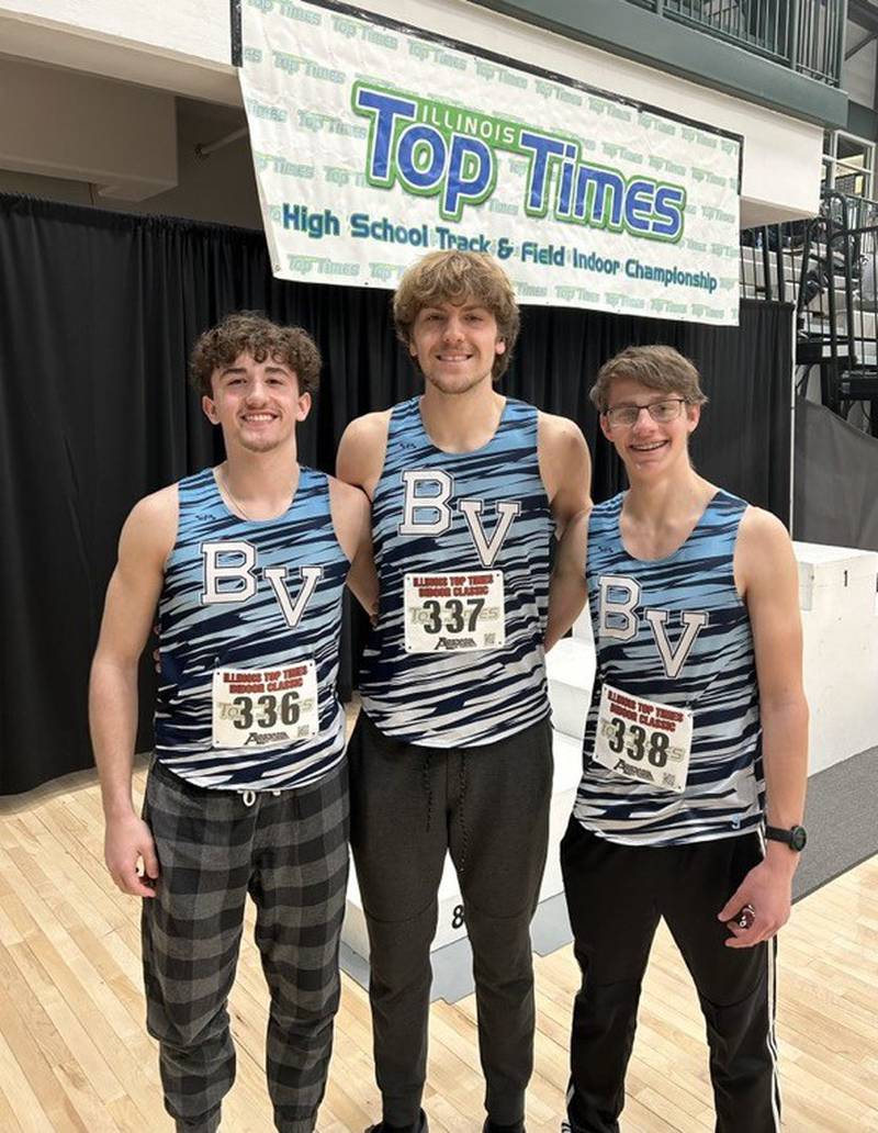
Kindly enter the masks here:
M 351 418 L 415 393 L 389 292 L 283 283 L 261 232 L 0 195 L 0 794 L 89 766 L 86 685 L 122 521 L 147 492 L 221 459 L 187 387 L 196 335 L 230 310 L 307 327 L 324 357 L 302 461 L 331 470 Z M 741 326 L 526 307 L 504 391 L 583 428 L 594 496 L 622 485 L 588 402 L 595 370 L 629 343 L 694 359 L 711 404 L 700 471 L 786 518 L 790 308 L 742 305 Z M 348 692 L 361 623 L 346 632 Z M 351 646 L 351 637 L 353 646 Z M 150 744 L 151 663 L 138 748 Z

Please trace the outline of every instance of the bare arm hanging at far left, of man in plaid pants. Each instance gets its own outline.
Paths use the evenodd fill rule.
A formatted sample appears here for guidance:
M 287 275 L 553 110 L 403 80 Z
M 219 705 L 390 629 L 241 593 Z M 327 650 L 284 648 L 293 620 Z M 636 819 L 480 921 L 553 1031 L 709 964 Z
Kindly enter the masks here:
M 126 520 L 119 561 L 106 589 L 101 636 L 92 663 L 88 713 L 101 777 L 104 860 L 123 893 L 151 897 L 137 872 L 157 878 L 148 826 L 135 813 L 131 768 L 137 739 L 137 663 L 155 620 L 164 561 L 177 531 L 177 487 L 142 500 Z

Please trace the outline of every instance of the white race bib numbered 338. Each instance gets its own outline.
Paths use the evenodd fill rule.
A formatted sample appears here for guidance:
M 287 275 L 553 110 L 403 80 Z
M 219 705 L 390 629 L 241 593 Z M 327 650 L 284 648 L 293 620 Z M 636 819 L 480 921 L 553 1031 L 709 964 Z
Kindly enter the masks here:
M 690 708 L 671 708 L 604 684 L 595 763 L 623 778 L 682 794 L 691 750 Z

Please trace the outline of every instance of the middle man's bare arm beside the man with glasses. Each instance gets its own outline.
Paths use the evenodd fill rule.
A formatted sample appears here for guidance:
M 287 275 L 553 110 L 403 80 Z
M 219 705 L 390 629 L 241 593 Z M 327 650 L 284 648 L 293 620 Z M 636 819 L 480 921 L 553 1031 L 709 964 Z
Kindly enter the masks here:
M 546 649 L 570 629 L 586 603 L 586 540 L 591 509 L 591 460 L 582 431 L 566 417 L 540 414 L 539 474 L 559 546 L 548 591 Z

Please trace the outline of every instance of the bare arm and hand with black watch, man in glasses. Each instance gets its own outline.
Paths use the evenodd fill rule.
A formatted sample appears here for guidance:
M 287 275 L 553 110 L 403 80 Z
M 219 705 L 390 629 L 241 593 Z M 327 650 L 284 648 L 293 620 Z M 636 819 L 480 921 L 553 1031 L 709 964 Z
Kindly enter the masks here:
M 802 821 L 804 811 L 808 704 L 802 685 L 802 623 L 793 546 L 783 523 L 767 511 L 750 508 L 741 521 L 735 580 L 753 632 L 766 821 L 789 829 Z M 747 948 L 768 940 L 786 923 L 798 862 L 798 852 L 782 842 L 766 844 L 765 860 L 750 870 L 719 911 L 719 919 L 728 921 L 745 904 L 756 910 L 749 929 L 730 925 L 730 947 Z

